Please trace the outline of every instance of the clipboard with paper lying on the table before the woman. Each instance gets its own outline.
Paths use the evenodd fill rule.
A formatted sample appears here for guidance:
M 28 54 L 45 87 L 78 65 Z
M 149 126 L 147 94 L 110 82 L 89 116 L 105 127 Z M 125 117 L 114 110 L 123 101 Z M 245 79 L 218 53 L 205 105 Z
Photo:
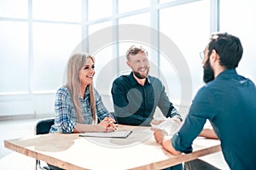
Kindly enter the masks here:
M 131 130 L 114 131 L 111 133 L 80 133 L 79 137 L 97 137 L 97 138 L 119 138 L 125 139 L 132 133 Z

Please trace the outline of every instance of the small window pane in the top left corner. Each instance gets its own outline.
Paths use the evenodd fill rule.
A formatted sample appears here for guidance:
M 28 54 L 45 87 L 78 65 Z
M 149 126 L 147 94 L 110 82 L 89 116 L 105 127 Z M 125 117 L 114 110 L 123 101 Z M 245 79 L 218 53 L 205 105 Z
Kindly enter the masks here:
M 1 0 L 0 16 L 27 18 L 27 0 Z

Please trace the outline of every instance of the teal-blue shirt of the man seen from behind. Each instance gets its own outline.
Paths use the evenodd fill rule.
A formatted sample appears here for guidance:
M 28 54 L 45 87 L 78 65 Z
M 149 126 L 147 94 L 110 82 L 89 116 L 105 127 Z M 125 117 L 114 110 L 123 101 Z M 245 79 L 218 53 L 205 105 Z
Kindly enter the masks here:
M 207 121 L 221 142 L 230 169 L 256 168 L 256 88 L 252 81 L 225 70 L 195 95 L 180 131 L 172 137 L 175 150 L 191 152 L 191 144 Z

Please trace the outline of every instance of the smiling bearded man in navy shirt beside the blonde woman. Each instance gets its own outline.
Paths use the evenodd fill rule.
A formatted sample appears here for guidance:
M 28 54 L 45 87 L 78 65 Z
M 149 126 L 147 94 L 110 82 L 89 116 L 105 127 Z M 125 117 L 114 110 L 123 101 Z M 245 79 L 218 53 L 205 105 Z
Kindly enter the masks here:
M 181 116 L 168 99 L 165 87 L 156 77 L 148 76 L 148 52 L 143 47 L 131 46 L 126 53 L 126 64 L 131 74 L 116 78 L 111 90 L 113 108 L 119 124 L 150 126 L 161 121 L 153 118 L 156 106 L 166 117 L 182 122 Z M 178 164 L 166 169 L 182 170 Z

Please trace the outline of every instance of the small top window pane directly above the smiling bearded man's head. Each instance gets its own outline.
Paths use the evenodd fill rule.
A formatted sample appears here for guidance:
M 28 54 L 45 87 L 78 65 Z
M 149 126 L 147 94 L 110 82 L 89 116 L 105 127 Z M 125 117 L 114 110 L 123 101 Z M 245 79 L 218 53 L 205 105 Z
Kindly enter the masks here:
M 119 14 L 150 7 L 148 0 L 119 0 Z

